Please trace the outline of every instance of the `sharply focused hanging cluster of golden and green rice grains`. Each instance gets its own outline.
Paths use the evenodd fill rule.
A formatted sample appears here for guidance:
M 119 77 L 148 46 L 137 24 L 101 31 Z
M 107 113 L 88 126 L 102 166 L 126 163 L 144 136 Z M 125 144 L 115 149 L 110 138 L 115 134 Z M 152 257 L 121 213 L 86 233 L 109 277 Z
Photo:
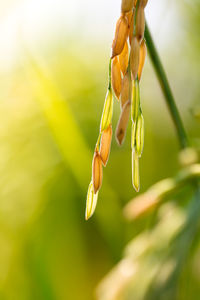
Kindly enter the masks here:
M 140 188 L 139 158 L 144 145 L 144 118 L 140 105 L 140 79 L 146 58 L 144 40 L 145 13 L 148 0 L 122 0 L 121 16 L 116 23 L 109 65 L 109 86 L 101 118 L 100 133 L 92 163 L 92 181 L 88 188 L 86 214 L 94 213 L 101 188 L 103 166 L 106 166 L 112 140 L 113 94 L 120 101 L 121 114 L 115 137 L 122 145 L 128 121 L 132 121 L 132 182 Z

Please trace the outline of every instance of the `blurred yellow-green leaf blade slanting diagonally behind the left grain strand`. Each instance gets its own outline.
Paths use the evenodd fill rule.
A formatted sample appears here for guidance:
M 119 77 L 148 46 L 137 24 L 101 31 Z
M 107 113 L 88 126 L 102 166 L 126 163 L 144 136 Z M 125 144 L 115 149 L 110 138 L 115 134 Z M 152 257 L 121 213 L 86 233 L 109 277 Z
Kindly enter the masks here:
M 67 101 L 64 100 L 58 90 L 48 68 L 43 61 L 32 55 L 28 50 L 26 51 L 26 56 L 30 66 L 28 70 L 31 88 L 36 95 L 38 104 L 48 122 L 64 161 L 71 169 L 80 188 L 85 191 L 86 197 L 89 182 L 86 174 L 91 173 L 92 153 Z M 105 177 L 104 189 L 99 200 L 101 201 L 104 198 L 109 199 L 109 201 L 104 201 L 103 205 L 98 205 L 96 217 L 99 228 L 109 245 L 109 250 L 113 258 L 117 260 L 120 257 L 123 246 L 121 242 L 123 239 L 123 219 L 121 207 L 117 200 L 118 195 Z M 85 202 L 85 198 L 83 198 L 83 201 Z M 118 222 L 116 222 L 116 219 Z

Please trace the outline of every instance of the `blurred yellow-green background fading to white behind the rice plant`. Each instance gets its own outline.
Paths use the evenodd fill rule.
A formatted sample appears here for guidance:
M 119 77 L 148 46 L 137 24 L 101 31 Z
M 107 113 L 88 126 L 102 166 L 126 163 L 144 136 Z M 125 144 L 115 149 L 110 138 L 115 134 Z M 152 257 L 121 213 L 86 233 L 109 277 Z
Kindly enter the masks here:
M 1 300 L 94 299 L 125 245 L 155 222 L 151 216 L 127 223 L 122 215 L 135 196 L 130 126 L 122 148 L 113 139 L 97 210 L 84 220 L 119 15 L 120 0 L 0 2 Z M 199 147 L 200 1 L 149 0 L 146 17 L 187 133 Z M 179 170 L 176 133 L 149 58 L 141 97 L 144 192 Z M 114 128 L 119 113 L 115 101 Z M 184 190 L 179 202 L 188 195 Z M 178 213 L 185 210 L 180 205 Z M 194 265 L 195 280 L 185 274 L 180 290 L 187 293 L 178 299 L 198 299 L 200 266 Z

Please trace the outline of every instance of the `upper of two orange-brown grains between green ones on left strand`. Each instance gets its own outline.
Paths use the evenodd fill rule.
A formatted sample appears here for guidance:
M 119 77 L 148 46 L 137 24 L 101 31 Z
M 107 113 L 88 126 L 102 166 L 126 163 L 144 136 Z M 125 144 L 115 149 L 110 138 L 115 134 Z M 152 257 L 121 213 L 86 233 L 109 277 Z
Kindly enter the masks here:
M 111 141 L 112 141 L 112 126 L 110 125 L 106 130 L 103 131 L 101 137 L 100 156 L 104 166 L 106 166 L 108 162 Z

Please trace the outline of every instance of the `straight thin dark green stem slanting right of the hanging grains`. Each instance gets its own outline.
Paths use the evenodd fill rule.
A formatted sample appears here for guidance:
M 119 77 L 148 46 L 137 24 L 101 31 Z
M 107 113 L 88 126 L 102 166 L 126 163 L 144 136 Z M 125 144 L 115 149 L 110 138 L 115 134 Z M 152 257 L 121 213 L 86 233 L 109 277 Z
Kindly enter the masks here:
M 174 121 L 174 125 L 176 127 L 180 146 L 181 146 L 181 148 L 186 148 L 186 147 L 188 147 L 188 144 L 189 144 L 188 138 L 187 138 L 179 111 L 177 109 L 177 106 L 176 106 L 176 103 L 174 100 L 174 96 L 173 96 L 171 88 L 169 86 L 167 76 L 165 74 L 164 68 L 162 66 L 158 52 L 155 48 L 155 45 L 154 45 L 154 42 L 151 37 L 151 33 L 149 31 L 147 24 L 146 24 L 146 29 L 145 29 L 145 39 L 146 39 L 146 43 L 147 43 L 148 53 L 150 55 L 153 67 L 155 69 L 158 80 L 160 82 L 160 86 L 161 86 L 163 94 L 165 96 L 165 100 L 167 102 L 171 117 L 172 117 L 172 119 Z

